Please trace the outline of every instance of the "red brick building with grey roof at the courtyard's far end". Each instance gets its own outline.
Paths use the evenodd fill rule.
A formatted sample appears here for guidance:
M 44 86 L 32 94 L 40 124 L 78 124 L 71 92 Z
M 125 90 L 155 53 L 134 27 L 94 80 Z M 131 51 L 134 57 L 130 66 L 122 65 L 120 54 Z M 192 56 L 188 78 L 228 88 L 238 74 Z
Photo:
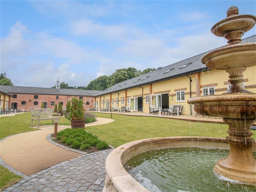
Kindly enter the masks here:
M 58 84 L 56 84 L 58 87 Z M 97 90 L 77 90 L 77 89 L 61 89 L 61 88 L 44 88 L 44 87 L 21 87 L 1 85 L 0 90 L 9 93 L 7 108 L 12 109 L 38 109 L 41 104 L 45 108 L 54 109 L 55 104 L 61 102 L 63 108 L 66 108 L 67 102 L 73 97 L 83 100 L 84 109 L 93 108 L 95 95 L 102 91 Z M 5 105 L 3 105 L 5 106 Z

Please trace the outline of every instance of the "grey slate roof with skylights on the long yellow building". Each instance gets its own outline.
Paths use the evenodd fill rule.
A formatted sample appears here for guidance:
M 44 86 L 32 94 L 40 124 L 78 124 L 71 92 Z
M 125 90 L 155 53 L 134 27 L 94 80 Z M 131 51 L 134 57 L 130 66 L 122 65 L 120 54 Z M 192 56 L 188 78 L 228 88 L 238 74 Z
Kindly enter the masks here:
M 250 36 L 248 38 L 244 38 L 242 42 L 243 43 L 256 42 L 256 35 Z M 113 85 L 112 87 L 109 87 L 106 90 L 103 90 L 101 93 L 98 93 L 96 96 L 104 95 L 107 93 L 113 93 L 116 91 L 125 90 L 132 87 L 139 87 L 141 85 L 150 84 L 158 81 L 164 81 L 167 79 L 174 79 L 180 76 L 186 76 L 189 74 L 207 70 L 207 67 L 201 62 L 202 56 L 205 55 L 206 53 L 207 52 L 204 52 L 194 57 L 187 58 L 183 61 L 170 64 L 166 67 L 159 67 L 157 70 L 143 74 L 141 76 L 137 76 L 132 79 L 122 81 L 120 83 Z M 186 67 L 183 67 L 186 64 L 188 65 Z M 168 73 L 165 73 L 168 70 L 170 71 Z

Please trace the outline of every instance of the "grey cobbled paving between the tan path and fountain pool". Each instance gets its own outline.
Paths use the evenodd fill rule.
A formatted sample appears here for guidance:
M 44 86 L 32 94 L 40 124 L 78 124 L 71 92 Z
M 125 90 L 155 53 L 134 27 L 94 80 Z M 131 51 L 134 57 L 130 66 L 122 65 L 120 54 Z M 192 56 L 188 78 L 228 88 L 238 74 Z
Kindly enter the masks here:
M 111 150 L 85 154 L 45 169 L 11 187 L 12 192 L 102 191 L 105 160 Z

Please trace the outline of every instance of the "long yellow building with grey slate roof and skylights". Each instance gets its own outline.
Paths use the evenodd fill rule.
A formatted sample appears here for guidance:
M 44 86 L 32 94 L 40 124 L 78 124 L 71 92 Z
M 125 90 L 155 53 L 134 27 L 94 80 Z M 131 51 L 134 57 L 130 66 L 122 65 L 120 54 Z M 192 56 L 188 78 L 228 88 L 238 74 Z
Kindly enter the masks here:
M 243 39 L 255 42 L 256 35 Z M 190 97 L 222 94 L 229 88 L 229 74 L 224 70 L 210 70 L 201 63 L 205 53 L 159 67 L 150 73 L 109 87 L 95 97 L 94 108 L 129 107 L 131 111 L 149 113 L 149 105 L 158 109 L 183 105 L 184 115 L 195 115 Z M 234 61 L 235 62 L 235 61 Z M 256 93 L 256 67 L 244 72 L 244 87 Z

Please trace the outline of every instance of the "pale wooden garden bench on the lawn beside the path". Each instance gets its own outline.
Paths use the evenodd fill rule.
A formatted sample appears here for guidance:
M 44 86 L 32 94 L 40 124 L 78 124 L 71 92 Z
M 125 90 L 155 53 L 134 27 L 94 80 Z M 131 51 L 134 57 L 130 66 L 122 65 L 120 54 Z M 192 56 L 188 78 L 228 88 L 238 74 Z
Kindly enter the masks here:
M 51 120 L 52 125 L 55 119 L 58 119 L 58 125 L 60 125 L 61 114 L 58 116 L 53 116 L 52 109 L 32 109 L 31 110 L 31 127 L 33 127 L 33 121 L 37 121 L 37 127 L 39 128 L 39 122 L 44 120 Z

